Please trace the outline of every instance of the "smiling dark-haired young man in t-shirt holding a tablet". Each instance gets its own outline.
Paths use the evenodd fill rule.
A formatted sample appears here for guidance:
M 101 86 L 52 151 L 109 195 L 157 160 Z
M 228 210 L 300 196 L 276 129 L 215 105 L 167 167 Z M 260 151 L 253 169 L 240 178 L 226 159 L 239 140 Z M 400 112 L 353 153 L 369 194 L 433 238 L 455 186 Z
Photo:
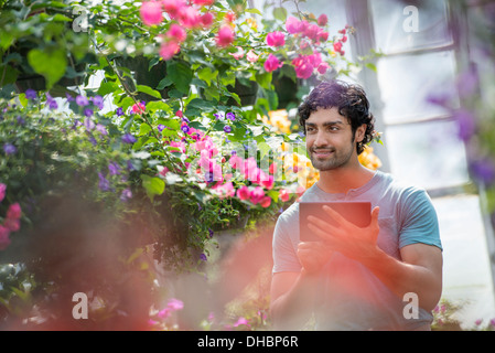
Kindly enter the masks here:
M 299 330 L 314 314 L 316 330 L 429 330 L 442 291 L 442 247 L 428 194 L 359 163 L 374 117 L 357 85 L 320 84 L 299 116 L 320 170 L 300 201 L 370 202 L 372 221 L 357 227 L 325 206 L 327 218 L 308 217 L 321 242 L 301 243 L 299 203 L 280 215 L 273 234 L 275 327 Z

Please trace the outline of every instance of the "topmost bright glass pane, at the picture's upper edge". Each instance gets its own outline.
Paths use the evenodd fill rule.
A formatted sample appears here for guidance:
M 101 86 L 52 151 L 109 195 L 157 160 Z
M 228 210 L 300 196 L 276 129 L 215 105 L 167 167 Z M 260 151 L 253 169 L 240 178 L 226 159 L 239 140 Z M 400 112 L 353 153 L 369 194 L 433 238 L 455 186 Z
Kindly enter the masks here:
M 452 43 L 444 0 L 368 1 L 376 49 L 397 53 Z

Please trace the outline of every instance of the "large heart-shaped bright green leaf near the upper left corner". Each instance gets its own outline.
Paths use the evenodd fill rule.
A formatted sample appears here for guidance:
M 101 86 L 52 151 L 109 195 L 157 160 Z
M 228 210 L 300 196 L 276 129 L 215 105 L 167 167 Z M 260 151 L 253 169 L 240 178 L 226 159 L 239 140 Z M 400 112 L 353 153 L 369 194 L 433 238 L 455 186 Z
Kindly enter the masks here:
M 36 73 L 45 77 L 49 89 L 64 76 L 67 67 L 67 57 L 62 50 L 33 49 L 28 53 L 28 62 Z

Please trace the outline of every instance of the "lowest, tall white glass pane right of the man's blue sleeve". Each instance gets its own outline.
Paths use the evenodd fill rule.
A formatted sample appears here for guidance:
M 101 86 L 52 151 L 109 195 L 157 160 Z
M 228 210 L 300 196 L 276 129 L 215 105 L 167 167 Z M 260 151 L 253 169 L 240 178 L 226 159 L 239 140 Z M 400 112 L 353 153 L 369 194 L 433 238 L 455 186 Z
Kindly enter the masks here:
M 495 318 L 489 248 L 477 195 L 433 199 L 443 246 L 442 297 L 464 303 L 459 319 L 473 327 Z

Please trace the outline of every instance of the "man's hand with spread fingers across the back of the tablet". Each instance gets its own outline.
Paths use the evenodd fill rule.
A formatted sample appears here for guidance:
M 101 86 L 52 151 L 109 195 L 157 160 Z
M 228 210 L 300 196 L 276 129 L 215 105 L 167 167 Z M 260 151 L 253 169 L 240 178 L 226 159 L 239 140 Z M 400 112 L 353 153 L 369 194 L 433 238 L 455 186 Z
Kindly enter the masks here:
M 379 207 L 375 207 L 372 211 L 372 222 L 367 227 L 354 225 L 326 205 L 323 206 L 323 210 L 338 226 L 331 225 L 314 216 L 309 216 L 308 221 L 310 222 L 310 229 L 322 238 L 325 248 L 338 252 L 362 263 L 373 259 L 376 250 L 379 249 L 377 246 Z

